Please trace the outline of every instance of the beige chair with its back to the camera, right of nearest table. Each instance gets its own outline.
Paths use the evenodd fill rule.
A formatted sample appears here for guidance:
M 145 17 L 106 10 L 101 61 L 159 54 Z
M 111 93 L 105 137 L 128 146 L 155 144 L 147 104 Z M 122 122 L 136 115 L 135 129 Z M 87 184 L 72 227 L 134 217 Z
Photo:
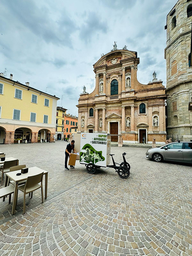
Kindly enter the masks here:
M 41 182 L 41 184 L 38 184 Z M 43 203 L 43 172 L 34 176 L 29 176 L 27 178 L 27 181 L 25 185 L 21 185 L 18 187 L 20 191 L 24 193 L 24 199 L 23 199 L 23 213 L 25 213 L 25 196 L 28 193 L 31 193 L 37 189 L 41 188 L 41 197 L 42 197 L 42 203 Z

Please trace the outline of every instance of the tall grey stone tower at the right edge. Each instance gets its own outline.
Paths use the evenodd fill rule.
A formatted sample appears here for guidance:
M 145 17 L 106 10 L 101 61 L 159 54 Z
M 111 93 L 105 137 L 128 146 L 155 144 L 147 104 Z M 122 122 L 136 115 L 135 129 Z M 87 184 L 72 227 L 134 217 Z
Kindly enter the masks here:
M 179 0 L 167 15 L 167 133 L 192 139 L 192 1 Z

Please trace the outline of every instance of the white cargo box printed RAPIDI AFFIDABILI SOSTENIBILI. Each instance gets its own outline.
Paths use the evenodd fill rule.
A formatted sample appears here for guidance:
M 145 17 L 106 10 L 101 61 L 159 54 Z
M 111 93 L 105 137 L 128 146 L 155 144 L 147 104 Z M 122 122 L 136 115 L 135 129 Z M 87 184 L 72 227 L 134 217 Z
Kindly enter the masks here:
M 107 133 L 81 133 L 80 163 L 106 167 L 110 164 L 111 136 Z

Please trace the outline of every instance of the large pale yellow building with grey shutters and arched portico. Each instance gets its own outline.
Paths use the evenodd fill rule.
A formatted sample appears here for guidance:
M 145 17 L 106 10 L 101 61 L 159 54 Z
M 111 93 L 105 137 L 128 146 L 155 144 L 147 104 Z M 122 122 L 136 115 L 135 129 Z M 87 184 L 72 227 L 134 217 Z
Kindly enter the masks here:
M 54 141 L 57 100 L 0 73 L 0 144 Z

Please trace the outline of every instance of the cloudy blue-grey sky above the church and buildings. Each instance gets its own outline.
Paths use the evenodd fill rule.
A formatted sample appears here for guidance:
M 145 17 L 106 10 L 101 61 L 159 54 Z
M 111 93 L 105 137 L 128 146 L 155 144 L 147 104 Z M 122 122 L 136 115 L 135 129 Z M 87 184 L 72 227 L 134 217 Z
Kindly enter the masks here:
M 0 72 L 61 98 L 78 115 L 79 94 L 95 86 L 101 53 L 138 52 L 138 80 L 156 70 L 166 86 L 166 16 L 176 0 L 1 0 Z M 58 100 L 61 106 L 61 100 Z

